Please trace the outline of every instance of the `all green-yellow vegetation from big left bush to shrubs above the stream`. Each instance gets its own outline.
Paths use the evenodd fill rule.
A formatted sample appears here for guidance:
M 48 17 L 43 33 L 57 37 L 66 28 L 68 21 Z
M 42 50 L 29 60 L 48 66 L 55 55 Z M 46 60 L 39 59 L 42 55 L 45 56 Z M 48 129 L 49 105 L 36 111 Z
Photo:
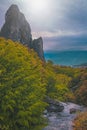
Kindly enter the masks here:
M 0 38 L 0 130 L 42 130 L 45 96 L 87 106 L 87 69 L 44 63 L 33 50 Z

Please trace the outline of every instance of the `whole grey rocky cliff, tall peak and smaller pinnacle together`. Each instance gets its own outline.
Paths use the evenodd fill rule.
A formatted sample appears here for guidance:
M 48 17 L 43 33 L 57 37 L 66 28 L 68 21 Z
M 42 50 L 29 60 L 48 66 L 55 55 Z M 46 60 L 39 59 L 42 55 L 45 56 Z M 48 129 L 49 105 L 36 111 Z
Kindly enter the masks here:
M 5 14 L 5 24 L 1 28 L 0 36 L 18 41 L 29 48 L 33 48 L 38 56 L 44 60 L 42 38 L 32 40 L 31 28 L 24 14 L 17 5 L 11 5 Z

